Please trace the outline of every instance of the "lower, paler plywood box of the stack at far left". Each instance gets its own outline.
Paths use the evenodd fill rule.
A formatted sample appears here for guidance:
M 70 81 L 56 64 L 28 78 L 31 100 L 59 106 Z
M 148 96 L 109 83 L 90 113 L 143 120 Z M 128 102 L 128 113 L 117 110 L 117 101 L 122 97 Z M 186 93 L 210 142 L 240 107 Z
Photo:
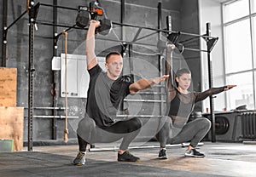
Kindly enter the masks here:
M 14 150 L 23 148 L 23 107 L 0 107 L 0 139 L 14 140 Z

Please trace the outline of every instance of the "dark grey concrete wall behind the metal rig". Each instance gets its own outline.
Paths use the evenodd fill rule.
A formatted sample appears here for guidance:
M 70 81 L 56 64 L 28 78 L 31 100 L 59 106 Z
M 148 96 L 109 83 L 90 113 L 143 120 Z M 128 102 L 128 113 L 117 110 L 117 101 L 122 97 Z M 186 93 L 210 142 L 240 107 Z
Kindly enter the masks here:
M 39 1 L 35 1 L 36 3 Z M 52 0 L 42 0 L 40 3 L 52 4 Z M 78 8 L 79 5 L 87 5 L 90 1 L 76 0 L 70 3 L 68 0 L 58 1 L 58 5 L 67 6 L 72 8 Z M 148 26 L 157 28 L 157 6 L 162 2 L 162 27 L 166 27 L 166 15 L 172 15 L 172 30 L 185 31 L 190 33 L 199 33 L 199 20 L 198 20 L 198 3 L 197 0 L 126 0 L 125 1 L 125 23 L 133 24 L 136 26 Z M 105 9 L 110 20 L 120 22 L 120 0 L 107 0 L 100 1 L 102 7 Z M 3 7 L 3 1 L 0 2 L 0 6 Z M 18 16 L 25 11 L 26 1 L 8 1 L 8 24 L 14 21 Z M 0 9 L 0 20 L 3 20 L 3 9 Z M 73 26 L 75 23 L 77 13 L 72 10 L 58 9 L 58 24 Z M 37 20 L 52 23 L 53 22 L 53 9 L 50 7 L 41 6 L 38 12 Z M 24 140 L 27 136 L 27 107 L 28 107 L 28 15 L 25 14 L 19 21 L 15 23 L 8 31 L 8 60 L 7 67 L 18 68 L 18 93 L 17 93 L 17 106 L 25 107 L 25 126 L 24 126 Z M 1 34 L 3 32 L 2 23 Z M 58 27 L 57 31 L 61 32 L 65 28 Z M 108 36 L 103 37 L 105 39 L 120 39 L 121 29 L 119 26 L 114 26 L 113 30 L 117 34 L 116 37 L 113 32 Z M 134 35 L 137 33 L 136 28 L 126 27 L 124 28 L 125 34 L 124 40 L 131 41 Z M 34 62 L 35 62 L 35 74 L 34 74 L 34 107 L 52 107 L 64 106 L 64 100 L 60 97 L 60 73 L 59 71 L 51 71 L 51 60 L 54 52 L 59 56 L 64 52 L 64 39 L 60 37 L 58 42 L 58 49 L 54 51 L 53 44 L 53 26 L 38 25 L 38 31 L 35 31 L 34 38 Z M 143 31 L 142 36 L 152 31 Z M 85 54 L 85 30 L 71 30 L 68 31 L 68 54 Z M 1 35 L 2 37 L 2 35 Z M 102 36 L 98 36 L 102 37 Z M 186 38 L 186 37 L 183 37 Z M 182 39 L 183 39 L 182 38 Z M 2 38 L 1 38 L 2 39 Z M 140 40 L 140 43 L 156 44 L 158 35 L 152 35 L 151 37 Z M 119 43 L 109 42 L 107 40 L 96 40 L 96 54 L 101 54 L 103 50 L 110 47 L 119 45 Z M 1 60 L 2 59 L 2 43 L 1 46 Z M 195 40 L 193 43 L 189 43 L 189 47 L 198 48 L 199 43 Z M 154 47 L 145 47 L 141 45 L 134 45 L 134 51 L 141 53 L 156 53 L 157 49 Z M 138 77 L 156 77 L 159 76 L 159 71 L 150 70 L 145 68 L 145 62 L 158 68 L 158 56 L 147 56 L 145 54 L 133 54 L 134 63 L 133 67 Z M 193 72 L 194 77 L 194 89 L 200 91 L 201 88 L 201 64 L 200 54 L 198 52 L 184 51 L 183 56 L 188 63 L 190 70 Z M 143 62 L 145 61 L 145 62 Z M 124 72 L 129 73 L 130 66 L 125 61 Z M 54 77 L 55 76 L 55 77 Z M 55 78 L 55 79 L 54 79 Z M 53 96 L 51 95 L 51 85 L 56 83 L 57 88 L 57 102 L 53 105 Z M 71 116 L 77 116 L 79 118 L 84 117 L 84 107 L 86 99 L 72 99 L 68 98 L 68 113 Z M 145 105 L 143 111 L 150 110 L 150 105 Z M 196 107 L 200 109 L 201 106 Z M 57 111 L 58 115 L 64 115 L 64 111 Z M 50 116 L 53 112 L 48 109 L 35 109 L 34 115 Z M 79 119 L 69 119 L 69 139 L 75 139 L 75 129 Z M 57 123 L 57 140 L 63 139 L 64 120 L 58 119 Z M 33 140 L 51 140 L 52 139 L 52 119 L 51 118 L 34 118 L 33 124 Z

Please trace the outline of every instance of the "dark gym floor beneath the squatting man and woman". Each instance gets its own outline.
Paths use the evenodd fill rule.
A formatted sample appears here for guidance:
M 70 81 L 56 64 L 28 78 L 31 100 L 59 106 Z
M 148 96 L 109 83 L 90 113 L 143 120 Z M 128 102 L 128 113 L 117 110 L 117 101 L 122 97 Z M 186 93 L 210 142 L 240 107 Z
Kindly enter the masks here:
M 184 157 L 183 146 L 167 147 L 166 160 L 157 159 L 157 142 L 131 148 L 139 163 L 117 162 L 113 144 L 96 144 L 88 151 L 84 166 L 74 166 L 77 145 L 33 146 L 33 151 L 1 152 L 1 177 L 83 177 L 83 176 L 256 176 L 256 143 L 203 142 L 199 151 L 206 157 Z M 136 143 L 131 147 L 138 146 Z M 142 145 L 140 145 L 142 147 Z M 107 148 L 101 151 L 102 148 Z M 95 151 L 96 150 L 96 151 Z M 99 151 L 98 151 L 99 150 Z

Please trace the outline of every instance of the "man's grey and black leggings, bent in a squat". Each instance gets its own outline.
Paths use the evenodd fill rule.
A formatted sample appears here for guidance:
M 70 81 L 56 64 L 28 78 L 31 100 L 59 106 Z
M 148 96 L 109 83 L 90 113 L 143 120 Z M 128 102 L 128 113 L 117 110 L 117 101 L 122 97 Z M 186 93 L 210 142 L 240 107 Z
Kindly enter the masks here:
M 137 137 L 142 128 L 142 122 L 137 117 L 129 120 L 119 121 L 107 128 L 99 128 L 90 117 L 84 117 L 79 122 L 77 131 L 79 140 L 79 151 L 86 151 L 88 143 L 109 143 L 123 138 L 120 150 L 126 150 L 131 141 Z

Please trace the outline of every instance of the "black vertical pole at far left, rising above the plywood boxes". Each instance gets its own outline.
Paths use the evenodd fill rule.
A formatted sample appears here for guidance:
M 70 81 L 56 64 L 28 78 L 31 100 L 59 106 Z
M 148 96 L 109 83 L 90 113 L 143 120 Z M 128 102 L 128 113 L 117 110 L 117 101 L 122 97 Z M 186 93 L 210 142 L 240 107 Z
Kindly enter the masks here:
M 3 0 L 3 43 L 2 43 L 2 61 L 1 66 L 6 66 L 6 50 L 7 50 L 7 9 L 8 2 Z

